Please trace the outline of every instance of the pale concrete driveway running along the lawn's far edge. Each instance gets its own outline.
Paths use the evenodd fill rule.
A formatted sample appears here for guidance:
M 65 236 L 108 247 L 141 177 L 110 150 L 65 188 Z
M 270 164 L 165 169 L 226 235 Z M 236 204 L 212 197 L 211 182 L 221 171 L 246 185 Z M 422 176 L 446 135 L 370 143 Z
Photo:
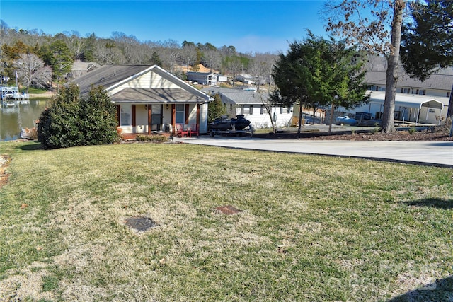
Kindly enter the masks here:
M 369 158 L 453 168 L 453 141 L 310 141 L 204 136 L 175 138 L 175 141 L 236 149 Z

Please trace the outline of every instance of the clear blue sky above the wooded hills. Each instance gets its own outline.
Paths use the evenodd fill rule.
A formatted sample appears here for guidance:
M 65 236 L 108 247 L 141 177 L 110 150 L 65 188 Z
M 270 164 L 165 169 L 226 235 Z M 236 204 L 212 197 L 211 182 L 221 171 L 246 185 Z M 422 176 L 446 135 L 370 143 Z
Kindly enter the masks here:
M 287 50 L 306 30 L 326 35 L 323 1 L 0 1 L 0 18 L 10 28 L 82 37 L 113 32 L 138 40 L 210 42 L 239 52 Z

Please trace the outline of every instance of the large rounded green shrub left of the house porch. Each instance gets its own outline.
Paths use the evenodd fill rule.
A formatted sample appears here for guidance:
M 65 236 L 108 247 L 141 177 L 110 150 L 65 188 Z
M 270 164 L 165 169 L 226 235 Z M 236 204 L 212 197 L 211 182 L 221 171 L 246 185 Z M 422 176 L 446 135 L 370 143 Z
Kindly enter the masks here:
M 79 87 L 62 88 L 40 116 L 38 140 L 45 149 L 113 144 L 118 140 L 115 106 L 103 88 L 80 97 Z

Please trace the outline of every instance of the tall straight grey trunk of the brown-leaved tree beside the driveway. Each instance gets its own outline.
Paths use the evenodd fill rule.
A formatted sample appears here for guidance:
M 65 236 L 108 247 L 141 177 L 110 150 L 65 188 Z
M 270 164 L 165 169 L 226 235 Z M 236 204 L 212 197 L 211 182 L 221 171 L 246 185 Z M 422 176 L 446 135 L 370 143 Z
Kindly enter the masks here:
M 394 1 L 394 18 L 391 25 L 391 52 L 386 71 L 386 88 L 384 100 L 384 114 L 382 115 L 382 132 L 395 132 L 395 95 L 398 83 L 399 48 L 401 44 L 401 25 L 405 0 Z

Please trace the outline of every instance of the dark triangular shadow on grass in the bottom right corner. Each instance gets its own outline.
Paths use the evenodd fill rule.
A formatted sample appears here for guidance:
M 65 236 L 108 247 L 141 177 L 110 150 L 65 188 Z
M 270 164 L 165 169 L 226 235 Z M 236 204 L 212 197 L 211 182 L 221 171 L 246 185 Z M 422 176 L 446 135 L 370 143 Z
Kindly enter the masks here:
M 438 279 L 406 294 L 392 298 L 388 302 L 453 301 L 453 277 Z

